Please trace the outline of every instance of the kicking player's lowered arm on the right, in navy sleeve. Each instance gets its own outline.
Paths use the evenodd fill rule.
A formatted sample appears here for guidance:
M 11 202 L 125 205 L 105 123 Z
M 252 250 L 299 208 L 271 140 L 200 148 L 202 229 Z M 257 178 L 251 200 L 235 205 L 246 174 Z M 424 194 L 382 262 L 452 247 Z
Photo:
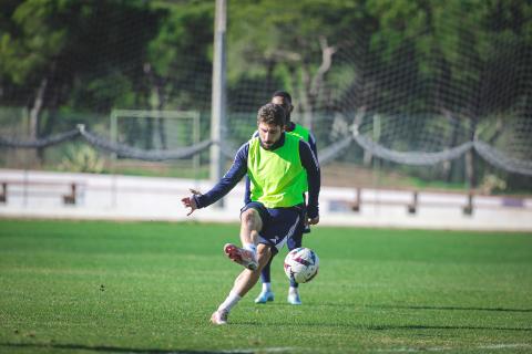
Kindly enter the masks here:
M 308 180 L 308 202 L 307 217 L 308 223 L 316 225 L 319 222 L 319 189 L 321 188 L 321 171 L 318 159 L 314 154 L 310 145 L 304 140 L 299 140 L 299 157 L 303 167 L 307 170 Z

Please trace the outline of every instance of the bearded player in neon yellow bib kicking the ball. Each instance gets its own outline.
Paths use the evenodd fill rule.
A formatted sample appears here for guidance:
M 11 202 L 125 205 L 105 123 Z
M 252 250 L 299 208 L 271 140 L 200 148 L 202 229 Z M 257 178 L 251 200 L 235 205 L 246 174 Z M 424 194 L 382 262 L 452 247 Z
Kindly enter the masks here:
M 206 194 L 195 190 L 183 198 L 188 215 L 225 196 L 247 174 L 250 202 L 241 210 L 243 248 L 227 243 L 225 254 L 246 268 L 228 296 L 211 316 L 214 324 L 226 324 L 229 311 L 257 283 L 272 254 L 285 244 L 299 226 L 319 222 L 320 171 L 308 143 L 285 134 L 285 110 L 268 103 L 257 115 L 258 136 L 242 145 L 225 176 Z M 304 214 L 304 191 L 308 185 L 308 206 Z

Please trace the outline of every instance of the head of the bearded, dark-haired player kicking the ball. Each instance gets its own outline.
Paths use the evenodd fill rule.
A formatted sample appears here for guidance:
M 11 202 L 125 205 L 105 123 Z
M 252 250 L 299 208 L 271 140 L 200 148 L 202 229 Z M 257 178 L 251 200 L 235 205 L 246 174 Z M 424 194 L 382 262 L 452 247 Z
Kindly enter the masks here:
M 274 103 L 265 104 L 258 110 L 257 126 L 263 147 L 272 148 L 285 132 L 285 110 Z

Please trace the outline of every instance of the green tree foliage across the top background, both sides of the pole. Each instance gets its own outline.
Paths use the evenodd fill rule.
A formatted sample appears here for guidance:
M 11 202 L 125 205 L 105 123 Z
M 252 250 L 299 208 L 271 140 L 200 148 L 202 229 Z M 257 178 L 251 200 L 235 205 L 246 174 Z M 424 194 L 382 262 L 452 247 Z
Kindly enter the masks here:
M 417 69 L 407 80 L 447 83 L 450 91 L 473 95 L 487 86 L 477 62 L 502 76 L 510 73 L 504 67 L 526 65 L 507 53 L 531 46 L 531 13 L 525 1 L 228 1 L 228 80 L 236 92 L 248 80 L 265 79 L 306 92 L 301 75 L 316 73 L 325 38 L 331 46 L 380 62 L 379 70 L 389 74 L 415 58 Z M 47 101 L 100 112 L 124 105 L 205 108 L 211 76 L 191 65 L 209 66 L 213 18 L 214 2 L 201 0 L 11 1 L 0 10 L 2 85 L 34 88 L 42 77 L 59 80 L 63 94 Z M 512 49 L 500 51 L 501 45 Z M 113 85 L 116 77 L 127 83 Z M 328 80 L 334 85 L 338 79 Z M 187 94 L 185 82 L 207 94 Z M 91 97 L 94 90 L 114 93 L 104 94 L 103 104 L 73 100 Z

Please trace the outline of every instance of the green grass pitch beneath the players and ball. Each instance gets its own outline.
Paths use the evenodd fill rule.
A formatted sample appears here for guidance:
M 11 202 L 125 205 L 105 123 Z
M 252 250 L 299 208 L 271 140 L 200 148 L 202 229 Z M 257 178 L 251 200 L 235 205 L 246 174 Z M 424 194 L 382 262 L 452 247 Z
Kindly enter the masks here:
M 320 272 L 213 326 L 237 225 L 0 220 L 1 353 L 532 351 L 532 235 L 316 227 Z

